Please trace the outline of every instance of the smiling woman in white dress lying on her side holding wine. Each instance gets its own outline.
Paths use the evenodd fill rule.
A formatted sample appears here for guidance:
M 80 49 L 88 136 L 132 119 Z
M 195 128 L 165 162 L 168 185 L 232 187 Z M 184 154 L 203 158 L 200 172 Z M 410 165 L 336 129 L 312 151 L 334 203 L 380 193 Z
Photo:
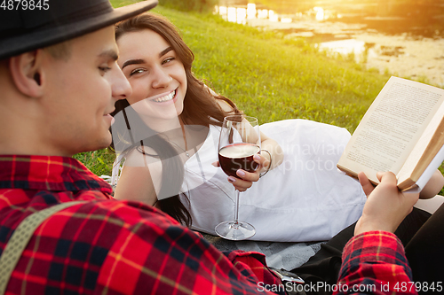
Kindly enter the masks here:
M 113 125 L 115 145 L 127 143 L 116 149 L 124 151 L 125 164 L 115 198 L 131 196 L 167 213 L 174 207 L 178 212 L 170 215 L 178 221 L 214 234 L 218 222 L 233 219 L 235 188 L 245 191 L 241 219 L 256 227 L 255 239 L 269 241 L 326 240 L 359 218 L 365 202 L 361 186 L 335 167 L 350 136 L 344 128 L 305 120 L 266 124 L 261 127 L 268 132 L 261 134 L 264 151 L 258 155 L 258 170 L 238 170 L 238 178 L 227 179 L 211 163 L 217 162 L 223 118 L 241 111 L 194 77 L 194 55 L 176 28 L 145 13 L 119 23 L 116 41 L 118 64 L 133 93 L 115 110 L 115 121 L 124 122 L 121 131 L 119 124 Z M 279 144 L 267 133 L 279 138 Z M 124 134 L 132 137 L 123 139 Z M 172 156 L 160 154 L 166 150 Z M 280 166 L 284 157 L 288 161 Z M 261 174 L 267 175 L 259 181 Z M 167 175 L 176 181 L 162 179 Z M 179 191 L 174 183 L 180 179 L 181 193 L 168 198 Z M 165 188 L 172 189 L 163 194 Z M 163 204 L 171 200 L 176 205 Z

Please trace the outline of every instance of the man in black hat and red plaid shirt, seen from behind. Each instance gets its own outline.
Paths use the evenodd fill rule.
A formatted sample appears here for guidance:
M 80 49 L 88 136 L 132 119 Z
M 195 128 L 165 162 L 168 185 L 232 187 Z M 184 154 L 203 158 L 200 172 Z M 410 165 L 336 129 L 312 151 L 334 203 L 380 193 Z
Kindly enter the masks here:
M 120 10 L 107 0 L 43 2 L 47 10 L 0 10 L 0 265 L 9 259 L 5 248 L 17 247 L 8 242 L 27 216 L 75 205 L 29 232 L 17 265 L 0 267 L 1 274 L 11 268 L 0 287 L 4 282 L 9 294 L 282 292 L 261 254 L 223 254 L 154 207 L 112 200 L 109 185 L 70 158 L 110 144 L 109 113 L 131 94 L 115 64 L 111 25 L 155 0 Z M 366 220 L 366 230 L 379 229 Z M 408 274 L 404 262 L 399 272 Z M 353 276 L 344 269 L 341 277 Z

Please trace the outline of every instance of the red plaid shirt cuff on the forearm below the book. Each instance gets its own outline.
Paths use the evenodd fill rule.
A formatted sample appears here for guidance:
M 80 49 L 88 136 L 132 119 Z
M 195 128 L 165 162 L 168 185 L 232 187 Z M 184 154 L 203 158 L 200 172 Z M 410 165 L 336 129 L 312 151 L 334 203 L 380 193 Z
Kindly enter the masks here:
M 398 237 L 385 231 L 353 237 L 345 245 L 334 294 L 417 294 Z

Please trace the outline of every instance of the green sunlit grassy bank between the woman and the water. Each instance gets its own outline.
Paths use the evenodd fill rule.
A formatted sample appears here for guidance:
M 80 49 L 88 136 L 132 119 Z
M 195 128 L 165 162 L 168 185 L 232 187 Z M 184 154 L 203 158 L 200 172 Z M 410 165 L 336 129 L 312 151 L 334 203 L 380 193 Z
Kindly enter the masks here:
M 347 58 L 328 58 L 302 41 L 216 16 L 163 7 L 155 12 L 170 19 L 194 51 L 194 74 L 261 123 L 300 118 L 353 132 L 389 78 Z M 75 157 L 97 175 L 109 175 L 114 159 L 107 151 Z

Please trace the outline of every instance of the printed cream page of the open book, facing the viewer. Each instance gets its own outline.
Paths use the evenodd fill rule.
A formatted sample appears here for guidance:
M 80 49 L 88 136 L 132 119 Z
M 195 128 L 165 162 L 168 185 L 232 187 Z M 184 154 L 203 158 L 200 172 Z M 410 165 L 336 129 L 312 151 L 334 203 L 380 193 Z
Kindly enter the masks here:
M 390 78 L 353 133 L 338 167 L 352 174 L 363 171 L 372 182 L 378 182 L 377 171 L 397 174 L 443 95 L 443 89 Z

